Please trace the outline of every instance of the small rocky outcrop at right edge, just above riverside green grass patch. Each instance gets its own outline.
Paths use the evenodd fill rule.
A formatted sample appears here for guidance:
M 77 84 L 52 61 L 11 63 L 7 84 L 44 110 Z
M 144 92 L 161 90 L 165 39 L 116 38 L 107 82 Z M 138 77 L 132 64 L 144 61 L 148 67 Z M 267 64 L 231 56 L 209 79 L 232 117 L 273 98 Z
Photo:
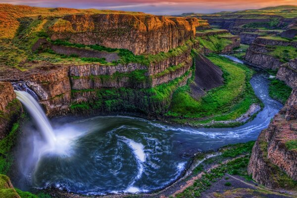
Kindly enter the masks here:
M 276 78 L 284 81 L 290 87 L 297 87 L 297 58 L 282 64 Z

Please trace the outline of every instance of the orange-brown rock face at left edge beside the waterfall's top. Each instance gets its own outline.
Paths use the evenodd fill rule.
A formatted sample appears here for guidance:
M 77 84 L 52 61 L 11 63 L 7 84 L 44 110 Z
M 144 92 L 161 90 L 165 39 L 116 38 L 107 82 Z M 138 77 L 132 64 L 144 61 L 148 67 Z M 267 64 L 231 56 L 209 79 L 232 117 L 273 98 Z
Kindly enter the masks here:
M 0 82 L 0 139 L 5 137 L 22 111 L 9 82 Z

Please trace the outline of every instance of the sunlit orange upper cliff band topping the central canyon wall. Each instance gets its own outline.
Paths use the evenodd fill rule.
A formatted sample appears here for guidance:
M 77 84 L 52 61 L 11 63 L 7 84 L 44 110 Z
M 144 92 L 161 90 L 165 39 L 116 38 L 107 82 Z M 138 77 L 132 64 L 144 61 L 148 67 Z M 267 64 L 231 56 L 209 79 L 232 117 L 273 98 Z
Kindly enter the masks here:
M 194 38 L 196 18 L 149 14 L 82 14 L 60 18 L 49 28 L 52 40 L 129 49 L 134 54 L 169 51 Z

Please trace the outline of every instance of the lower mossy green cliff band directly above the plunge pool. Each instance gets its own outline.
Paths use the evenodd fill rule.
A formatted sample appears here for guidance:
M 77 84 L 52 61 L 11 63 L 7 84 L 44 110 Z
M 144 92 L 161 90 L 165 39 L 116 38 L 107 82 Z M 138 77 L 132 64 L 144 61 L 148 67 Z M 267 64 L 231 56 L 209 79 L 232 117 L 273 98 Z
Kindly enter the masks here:
M 148 117 L 157 117 L 168 111 L 173 92 L 184 86 L 192 76 L 187 72 L 171 85 L 166 98 L 160 99 L 152 89 L 94 89 L 72 92 L 72 113 L 142 113 Z M 168 94 L 168 95 L 167 95 Z M 84 106 L 81 106 L 84 104 Z M 88 111 L 82 111 L 82 109 Z

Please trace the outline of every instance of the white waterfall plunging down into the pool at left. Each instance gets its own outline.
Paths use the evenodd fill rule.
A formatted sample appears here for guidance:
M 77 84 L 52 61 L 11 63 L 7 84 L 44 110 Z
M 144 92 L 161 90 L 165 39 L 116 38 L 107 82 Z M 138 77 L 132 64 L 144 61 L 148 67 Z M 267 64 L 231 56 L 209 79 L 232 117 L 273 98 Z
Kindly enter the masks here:
M 30 91 L 33 92 L 32 90 Z M 36 99 L 34 99 L 27 92 L 16 90 L 14 92 L 16 94 L 16 98 L 19 99 L 23 103 L 23 105 L 25 105 L 25 107 L 28 109 L 30 115 L 33 117 L 40 132 L 42 133 L 45 141 L 49 144 L 50 147 L 53 148 L 55 145 L 56 138 L 53 133 L 52 127 L 49 123 L 49 119 L 43 111 L 42 107 L 39 105 Z

